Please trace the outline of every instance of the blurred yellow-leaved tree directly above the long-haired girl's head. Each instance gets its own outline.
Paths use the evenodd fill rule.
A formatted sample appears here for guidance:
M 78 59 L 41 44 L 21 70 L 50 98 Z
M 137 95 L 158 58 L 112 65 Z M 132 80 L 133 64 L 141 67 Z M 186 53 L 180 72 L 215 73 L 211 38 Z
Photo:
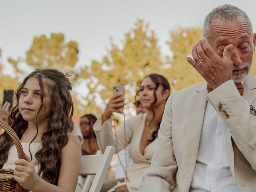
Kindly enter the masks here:
M 78 44 L 74 41 L 65 42 L 64 40 L 62 33 L 52 33 L 50 38 L 47 38 L 46 35 L 36 36 L 30 49 L 26 52 L 26 58 L 18 60 L 9 58 L 8 61 L 21 73 L 24 71 L 18 68 L 18 64 L 24 61 L 34 69 L 55 68 L 75 76 L 74 65 L 78 60 Z

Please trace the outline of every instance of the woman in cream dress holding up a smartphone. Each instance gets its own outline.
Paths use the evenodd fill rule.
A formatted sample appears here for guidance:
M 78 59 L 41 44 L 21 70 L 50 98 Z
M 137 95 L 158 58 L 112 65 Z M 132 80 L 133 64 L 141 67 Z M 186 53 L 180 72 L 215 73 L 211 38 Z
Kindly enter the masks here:
M 124 95 L 113 96 L 93 128 L 100 149 L 113 145 L 117 151 L 130 144 L 129 155 L 133 160 L 127 170 L 128 180 L 122 186 L 116 186 L 116 192 L 137 192 L 143 173 L 150 168 L 151 159 L 157 140 L 157 132 L 164 113 L 167 98 L 170 95 L 170 84 L 164 76 L 150 74 L 140 83 L 140 102 L 146 113 L 130 118 L 120 125 L 116 134 L 112 132 L 111 116 L 113 112 L 122 113 Z

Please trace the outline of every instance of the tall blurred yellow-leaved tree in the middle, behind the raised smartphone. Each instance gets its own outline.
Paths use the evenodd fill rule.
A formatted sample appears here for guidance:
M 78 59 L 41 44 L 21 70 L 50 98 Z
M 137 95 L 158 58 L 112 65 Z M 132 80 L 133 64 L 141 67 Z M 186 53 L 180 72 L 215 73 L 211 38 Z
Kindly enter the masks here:
M 130 114 L 140 81 L 151 73 L 164 74 L 166 64 L 160 57 L 157 38 L 148 24 L 138 20 L 122 42 L 122 47 L 111 42 L 111 49 L 102 61 L 94 60 L 91 66 L 82 70 L 80 77 L 86 79 L 89 88 L 84 113 L 100 116 L 106 101 L 112 97 L 113 86 L 125 85 L 126 111 Z

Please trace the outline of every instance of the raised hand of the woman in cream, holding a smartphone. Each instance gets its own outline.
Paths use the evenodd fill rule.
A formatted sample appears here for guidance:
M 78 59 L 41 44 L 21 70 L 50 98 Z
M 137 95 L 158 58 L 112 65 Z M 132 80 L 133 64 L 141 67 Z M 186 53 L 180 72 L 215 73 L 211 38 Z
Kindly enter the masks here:
M 116 96 L 113 96 L 109 100 L 107 107 L 106 107 L 104 113 L 102 114 L 102 124 L 106 120 L 111 118 L 111 115 L 113 112 L 122 113 L 122 110 L 120 110 L 120 108 L 122 108 L 123 106 L 124 106 L 124 95 L 118 94 Z

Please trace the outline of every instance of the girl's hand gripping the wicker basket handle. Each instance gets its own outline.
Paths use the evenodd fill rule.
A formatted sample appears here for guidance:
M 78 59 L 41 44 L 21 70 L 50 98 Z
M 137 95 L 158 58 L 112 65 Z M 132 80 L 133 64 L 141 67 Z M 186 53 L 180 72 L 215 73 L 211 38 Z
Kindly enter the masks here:
M 19 159 L 15 161 L 14 180 L 23 188 L 33 191 L 33 188 L 41 180 L 36 173 L 34 165 L 29 156 L 25 154 L 26 160 Z

